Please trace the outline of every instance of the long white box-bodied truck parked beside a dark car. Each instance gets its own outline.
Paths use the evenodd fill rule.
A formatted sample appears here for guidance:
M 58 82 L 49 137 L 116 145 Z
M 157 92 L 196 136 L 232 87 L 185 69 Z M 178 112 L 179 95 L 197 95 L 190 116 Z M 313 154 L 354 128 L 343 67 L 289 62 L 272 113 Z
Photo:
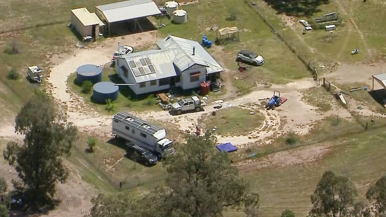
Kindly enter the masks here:
M 118 112 L 114 115 L 112 132 L 116 137 L 125 139 L 126 146 L 143 147 L 159 158 L 174 153 L 173 141 L 166 138 L 165 129 L 126 112 Z

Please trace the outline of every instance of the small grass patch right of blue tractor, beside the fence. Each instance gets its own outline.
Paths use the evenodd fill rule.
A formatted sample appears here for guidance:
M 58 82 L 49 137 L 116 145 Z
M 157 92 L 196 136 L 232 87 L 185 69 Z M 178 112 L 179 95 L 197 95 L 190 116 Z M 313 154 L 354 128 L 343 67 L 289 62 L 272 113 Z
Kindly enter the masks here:
M 334 97 L 323 87 L 313 87 L 302 91 L 303 100 L 306 103 L 318 107 L 321 112 L 331 109 L 331 104 L 335 102 Z

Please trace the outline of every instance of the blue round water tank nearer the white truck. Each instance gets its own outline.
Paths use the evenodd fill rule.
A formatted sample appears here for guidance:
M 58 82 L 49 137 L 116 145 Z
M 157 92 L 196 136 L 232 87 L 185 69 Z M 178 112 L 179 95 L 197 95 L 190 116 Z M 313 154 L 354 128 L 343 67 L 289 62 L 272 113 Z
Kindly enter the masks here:
M 105 103 L 107 99 L 115 101 L 118 98 L 119 88 L 115 83 L 102 81 L 96 83 L 93 88 L 93 100 L 99 103 Z

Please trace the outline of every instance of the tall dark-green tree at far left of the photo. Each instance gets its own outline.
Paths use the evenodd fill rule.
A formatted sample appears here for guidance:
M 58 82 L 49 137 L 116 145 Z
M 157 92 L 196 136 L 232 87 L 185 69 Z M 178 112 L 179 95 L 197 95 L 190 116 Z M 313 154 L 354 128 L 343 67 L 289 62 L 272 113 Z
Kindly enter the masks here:
M 51 97 L 36 92 L 17 115 L 15 131 L 24 135 L 24 142 L 9 142 L 4 159 L 15 165 L 30 202 L 48 202 L 57 181 L 64 182 L 68 176 L 61 157 L 69 156 L 77 129 L 66 122 Z

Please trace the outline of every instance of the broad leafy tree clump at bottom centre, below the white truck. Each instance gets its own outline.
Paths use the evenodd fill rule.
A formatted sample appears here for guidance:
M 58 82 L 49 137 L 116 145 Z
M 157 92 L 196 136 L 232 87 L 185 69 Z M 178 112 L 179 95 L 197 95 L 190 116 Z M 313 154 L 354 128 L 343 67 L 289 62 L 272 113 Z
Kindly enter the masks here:
M 216 139 L 210 134 L 188 136 L 187 143 L 164 161 L 166 186 L 134 202 L 127 199 L 127 206 L 123 207 L 130 207 L 126 210 L 130 210 L 130 216 L 147 217 L 212 217 L 221 215 L 224 207 L 243 207 L 248 217 L 256 217 L 259 195 L 250 191 L 228 155 L 216 150 L 215 144 Z M 120 203 L 114 200 L 102 196 L 94 199 L 89 216 L 122 214 Z M 110 208 L 101 208 L 107 204 Z

